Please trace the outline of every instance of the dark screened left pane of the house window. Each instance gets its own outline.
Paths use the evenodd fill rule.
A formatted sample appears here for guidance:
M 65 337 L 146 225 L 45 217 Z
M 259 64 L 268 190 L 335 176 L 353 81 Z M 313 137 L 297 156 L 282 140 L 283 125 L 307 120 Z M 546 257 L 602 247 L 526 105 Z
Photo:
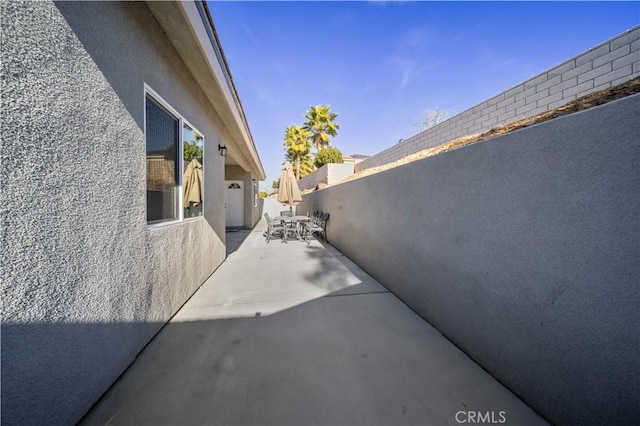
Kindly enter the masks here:
M 179 122 L 147 96 L 147 222 L 178 217 Z

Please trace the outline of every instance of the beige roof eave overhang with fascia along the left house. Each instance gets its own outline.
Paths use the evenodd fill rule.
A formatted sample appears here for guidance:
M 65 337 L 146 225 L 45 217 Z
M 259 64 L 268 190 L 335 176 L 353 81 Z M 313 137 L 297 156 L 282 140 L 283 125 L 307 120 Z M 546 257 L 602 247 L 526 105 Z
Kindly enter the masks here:
M 229 153 L 226 164 L 264 180 L 266 174 L 206 2 L 146 4 L 214 107 L 213 120 Z

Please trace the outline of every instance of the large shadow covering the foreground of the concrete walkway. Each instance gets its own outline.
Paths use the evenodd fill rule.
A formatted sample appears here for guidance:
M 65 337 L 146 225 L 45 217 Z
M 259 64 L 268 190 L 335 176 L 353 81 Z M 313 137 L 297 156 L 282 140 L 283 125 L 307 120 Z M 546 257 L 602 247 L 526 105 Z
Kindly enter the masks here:
M 390 293 L 259 309 L 167 324 L 80 424 L 545 424 Z

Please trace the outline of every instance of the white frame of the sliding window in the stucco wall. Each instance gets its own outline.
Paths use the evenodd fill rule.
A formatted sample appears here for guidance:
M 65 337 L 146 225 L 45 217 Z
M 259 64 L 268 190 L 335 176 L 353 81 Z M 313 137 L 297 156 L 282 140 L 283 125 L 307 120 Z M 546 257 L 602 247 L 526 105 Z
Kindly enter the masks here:
M 189 126 L 191 128 L 191 130 L 193 130 L 194 132 L 199 133 L 200 135 L 202 135 L 202 176 L 203 176 L 203 183 L 202 183 L 202 188 L 204 190 L 204 176 L 205 176 L 205 166 L 204 166 L 204 158 L 205 158 L 205 136 L 204 133 L 202 133 L 201 131 L 199 131 L 198 129 L 196 129 L 195 126 L 193 126 L 189 121 L 185 120 L 184 117 L 182 116 L 182 114 L 180 114 L 175 108 L 173 108 L 169 102 L 165 101 L 164 98 L 162 96 L 160 96 L 155 90 L 153 90 L 151 87 L 149 87 L 147 85 L 147 83 L 144 83 L 144 96 L 143 96 L 143 100 L 142 100 L 142 106 L 143 106 L 143 135 L 144 135 L 144 156 L 145 159 L 147 158 L 147 95 L 149 95 L 150 97 L 152 97 L 156 102 L 158 102 L 160 105 L 162 105 L 163 108 L 165 108 L 167 111 L 169 111 L 171 114 L 173 114 L 177 119 L 178 119 L 178 127 L 180 129 L 179 134 L 179 142 L 178 142 L 178 152 L 180 153 L 180 155 L 178 156 L 178 170 L 182 170 L 184 168 L 183 162 L 184 162 L 184 137 L 183 137 L 183 129 L 184 129 L 184 125 L 186 124 L 187 126 Z M 157 223 L 149 223 L 146 222 L 147 220 L 147 191 L 145 190 L 144 192 L 144 205 L 145 205 L 145 222 L 146 222 L 146 229 L 147 230 L 153 230 L 153 229 L 159 229 L 159 228 L 164 228 L 166 226 L 172 226 L 172 225 L 179 225 L 181 223 L 186 223 L 186 222 L 193 222 L 193 221 L 197 221 L 197 220 L 204 220 L 204 210 L 202 212 L 202 216 L 198 216 L 198 217 L 190 217 L 185 219 L 184 218 L 184 195 L 183 195 L 183 190 L 184 190 L 184 186 L 183 186 L 183 173 L 178 173 L 178 217 L 176 219 L 172 219 L 172 220 L 166 220 L 163 222 L 157 222 Z M 145 167 L 145 189 L 146 189 L 146 167 Z M 204 205 L 204 202 L 203 202 Z

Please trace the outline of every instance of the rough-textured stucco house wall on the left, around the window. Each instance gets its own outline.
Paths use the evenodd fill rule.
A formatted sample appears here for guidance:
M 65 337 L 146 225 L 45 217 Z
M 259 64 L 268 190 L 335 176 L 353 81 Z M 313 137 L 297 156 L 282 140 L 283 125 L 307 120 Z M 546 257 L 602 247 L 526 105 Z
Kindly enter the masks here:
M 144 3 L 1 10 L 2 423 L 73 424 L 223 262 L 225 131 Z M 147 226 L 144 84 L 204 135 L 202 218 Z

